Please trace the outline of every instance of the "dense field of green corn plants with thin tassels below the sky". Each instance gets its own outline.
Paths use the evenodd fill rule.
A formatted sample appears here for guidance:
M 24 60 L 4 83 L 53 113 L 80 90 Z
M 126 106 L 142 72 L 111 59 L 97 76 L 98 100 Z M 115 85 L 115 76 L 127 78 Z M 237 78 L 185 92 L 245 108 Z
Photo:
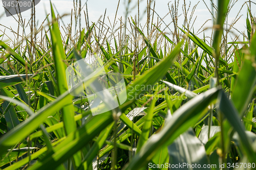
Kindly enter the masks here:
M 52 4 L 39 28 L 33 13 L 27 22 L 17 14 L 13 44 L 0 35 L 0 168 L 256 169 L 256 4 L 243 5 L 243 41 L 228 42 L 226 18 L 236 2 L 211 1 L 214 25 L 203 39 L 185 1 L 181 26 L 182 2 L 168 4 L 172 34 L 151 0 L 145 26 L 128 14 L 111 26 L 105 16 L 89 23 L 81 2 L 64 32 Z M 84 66 L 91 73 L 70 88 L 67 69 L 88 59 L 100 61 L 106 86 Z M 115 75 L 125 86 L 110 95 L 104 89 Z M 90 101 L 101 90 L 95 107 Z M 94 114 L 115 100 L 117 107 Z

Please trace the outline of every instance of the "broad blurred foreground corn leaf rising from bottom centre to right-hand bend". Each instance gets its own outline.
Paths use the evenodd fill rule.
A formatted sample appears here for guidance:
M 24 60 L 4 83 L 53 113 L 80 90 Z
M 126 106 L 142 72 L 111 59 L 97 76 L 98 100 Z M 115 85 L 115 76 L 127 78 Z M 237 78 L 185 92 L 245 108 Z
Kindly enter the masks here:
M 185 132 L 191 125 L 196 124 L 200 113 L 212 102 L 216 101 L 221 90 L 212 88 L 182 105 L 173 117 L 165 123 L 165 127 L 157 134 L 151 136 L 141 151 L 134 157 L 125 169 L 143 167 L 156 153 L 158 149 L 171 144 L 180 134 Z M 189 118 L 187 118 L 189 117 Z

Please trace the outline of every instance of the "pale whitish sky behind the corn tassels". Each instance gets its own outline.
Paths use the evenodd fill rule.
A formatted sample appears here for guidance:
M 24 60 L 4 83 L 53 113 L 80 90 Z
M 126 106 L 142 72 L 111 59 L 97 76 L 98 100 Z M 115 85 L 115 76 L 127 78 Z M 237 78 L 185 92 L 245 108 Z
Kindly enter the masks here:
M 126 8 L 127 8 L 127 4 L 128 4 L 129 0 L 121 0 L 120 4 L 119 4 L 119 9 L 117 12 L 117 18 L 120 18 L 122 16 L 122 18 L 125 18 L 125 14 L 126 14 Z M 58 13 L 60 16 L 63 14 L 68 14 L 68 16 L 65 16 L 62 18 L 64 25 L 68 25 L 70 23 L 70 13 L 72 8 L 74 8 L 73 5 L 73 1 L 71 0 L 52 0 L 51 1 L 52 4 L 55 7 L 55 13 Z M 117 5 L 118 5 L 118 0 L 81 0 L 81 4 L 83 6 L 83 4 L 85 4 L 87 2 L 87 7 L 88 7 L 88 15 L 89 15 L 89 21 L 91 22 L 97 22 L 98 19 L 101 17 L 101 19 L 103 18 L 105 9 L 106 9 L 106 17 L 109 17 L 109 20 L 111 21 L 111 24 L 113 24 L 114 18 L 115 18 L 115 13 L 116 13 L 116 9 L 117 9 Z M 137 0 L 131 0 L 131 4 L 128 7 L 128 11 L 129 14 L 128 16 L 135 16 L 138 15 L 138 8 L 137 8 Z M 168 12 L 168 2 L 166 0 L 156 0 L 156 5 L 155 5 L 155 11 L 156 13 L 160 16 L 160 17 L 164 17 Z M 186 2 L 186 8 L 188 8 L 189 6 L 189 2 L 185 0 Z M 214 1 L 216 2 L 216 1 Z M 240 8 L 242 7 L 242 5 L 244 4 L 244 0 L 238 0 L 238 2 L 236 3 L 236 5 L 232 8 L 229 16 L 228 16 L 228 23 L 230 23 L 232 20 L 234 20 L 234 18 L 237 16 L 238 11 L 240 10 Z M 170 4 L 174 3 L 174 1 L 170 2 Z M 184 21 L 184 17 L 182 14 L 182 5 L 183 5 L 183 1 L 181 0 L 179 3 L 179 9 L 178 9 L 178 14 L 181 16 L 179 17 L 179 22 L 178 25 L 180 27 L 182 27 L 183 21 Z M 207 20 L 207 19 L 211 19 L 210 21 L 208 21 L 206 23 L 205 27 L 211 27 L 212 26 L 212 16 L 210 14 L 210 12 L 208 11 L 208 9 L 206 8 L 206 5 L 204 4 L 203 1 L 191 1 L 191 5 L 190 5 L 190 10 L 188 12 L 188 15 L 191 14 L 191 9 L 198 3 L 198 6 L 195 10 L 195 13 L 193 15 L 193 18 L 195 18 L 197 16 L 197 19 L 194 23 L 194 30 L 195 32 L 197 32 L 197 30 L 199 30 L 201 28 L 201 26 L 203 25 L 203 23 Z M 205 0 L 205 3 L 210 6 L 210 1 L 209 0 Z M 4 25 L 5 27 L 0 25 L 0 35 L 3 34 L 4 30 L 6 29 L 6 33 L 7 35 L 9 35 L 9 38 L 12 39 L 13 35 L 10 33 L 10 31 L 8 31 L 8 28 L 12 28 L 13 30 L 17 30 L 17 15 L 14 15 L 14 17 L 9 16 L 6 17 L 6 15 L 4 14 L 4 7 L 2 7 L 3 4 L 2 2 L 0 3 L 0 24 Z M 255 6 L 255 5 L 254 5 Z M 146 21 L 146 14 L 145 14 L 145 10 L 146 10 L 146 0 L 141 0 L 140 1 L 140 21 L 142 23 L 145 23 Z M 153 8 L 153 3 L 151 8 Z M 82 10 L 86 10 L 85 6 Z M 210 9 L 211 10 L 211 9 Z M 237 28 L 239 31 L 245 31 L 246 30 L 246 12 L 247 12 L 247 6 L 244 5 L 244 7 L 241 10 L 240 15 L 241 18 L 237 21 L 236 25 L 234 26 L 235 28 Z M 37 28 L 39 28 L 39 26 L 41 25 L 41 22 L 45 20 L 45 17 L 47 16 L 47 13 L 50 13 L 50 1 L 49 0 L 41 0 L 40 3 L 36 6 L 36 23 L 37 23 Z M 3 14 L 3 15 L 2 15 Z M 255 13 L 254 13 L 255 14 Z M 23 19 L 26 18 L 26 20 L 29 20 L 30 16 L 31 16 L 31 10 L 25 11 L 22 13 Z M 156 16 L 156 14 L 155 14 Z M 170 23 L 171 18 L 170 18 L 170 14 L 168 14 L 164 19 L 164 22 L 168 25 L 168 23 Z M 194 20 L 194 19 L 193 19 Z M 156 20 L 155 20 L 156 21 Z M 106 22 L 109 23 L 109 22 Z M 47 23 L 45 23 L 45 25 L 47 25 Z M 84 14 L 82 12 L 81 15 L 81 27 L 85 27 L 85 20 L 84 20 Z M 172 30 L 173 25 L 170 25 L 170 29 Z M 73 29 L 74 30 L 74 29 Z M 165 30 L 166 32 L 168 32 L 168 29 Z M 208 32 L 206 31 L 206 35 L 207 33 L 210 33 L 211 29 L 208 30 Z M 238 32 L 236 30 L 233 30 L 233 33 L 230 38 L 234 38 L 236 34 L 238 34 Z M 201 37 L 200 37 L 201 36 Z M 200 38 L 202 38 L 202 34 L 199 35 Z M 8 41 L 8 37 L 4 36 L 3 40 Z M 242 40 L 242 39 L 240 39 Z

